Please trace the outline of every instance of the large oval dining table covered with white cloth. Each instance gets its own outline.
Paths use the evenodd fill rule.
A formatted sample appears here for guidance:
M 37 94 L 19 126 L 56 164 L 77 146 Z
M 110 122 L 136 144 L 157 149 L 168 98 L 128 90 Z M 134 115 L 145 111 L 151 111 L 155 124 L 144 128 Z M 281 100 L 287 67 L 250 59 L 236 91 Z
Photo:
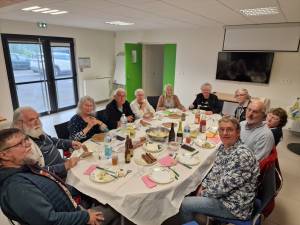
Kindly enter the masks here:
M 148 120 L 150 125 L 142 126 L 140 120 L 135 121 L 132 126 L 135 127 L 135 140 L 146 136 L 146 130 L 149 127 L 160 127 L 162 124 L 174 122 L 177 124 L 175 131 L 178 129 L 179 118 L 169 116 L 170 114 L 181 113 L 176 110 L 157 112 L 152 120 Z M 190 129 L 198 129 L 199 124 L 194 122 L 194 112 L 185 112 L 186 118 L 183 121 L 183 126 L 189 125 Z M 210 115 L 207 117 L 207 130 L 216 132 L 219 115 Z M 117 140 L 116 135 L 126 136 L 126 129 L 116 129 L 109 132 L 112 141 L 109 143 L 112 146 L 114 154 L 118 155 L 118 164 L 112 165 L 111 159 L 106 159 L 104 155 L 104 143 L 95 142 L 92 139 L 84 144 L 93 154 L 90 157 L 79 161 L 78 165 L 68 172 L 67 183 L 74 186 L 80 192 L 95 198 L 102 204 L 109 204 L 122 216 L 138 225 L 158 225 L 169 217 L 178 213 L 180 205 L 186 195 L 195 191 L 208 171 L 211 169 L 216 157 L 217 148 L 219 145 L 218 135 L 213 137 L 211 143 L 215 143 L 212 148 L 204 148 L 197 143 L 201 143 L 203 138 L 206 139 L 205 133 L 199 135 L 192 140 L 190 144 L 195 150 L 195 157 L 199 160 L 198 163 L 192 166 L 186 166 L 176 160 L 187 154 L 189 151 L 178 148 L 177 151 L 168 148 L 166 142 L 160 143 L 163 146 L 162 150 L 153 155 L 157 158 L 157 162 L 151 165 L 141 165 L 135 159 L 136 154 L 144 151 L 145 146 L 136 148 L 133 152 L 134 156 L 130 163 L 125 163 L 125 141 Z M 210 140 L 210 139 L 208 139 Z M 189 153 L 188 153 L 189 154 Z M 81 155 L 81 150 L 73 152 L 74 156 Z M 163 162 L 175 158 L 175 163 L 171 167 L 163 167 Z M 177 157 L 177 158 L 176 158 Z M 110 171 L 124 172 L 124 176 L 110 180 L 110 182 L 95 182 L 91 179 L 91 173 L 97 170 L 96 167 L 108 169 Z M 170 182 L 160 184 L 155 183 L 149 186 L 142 179 L 150 174 L 155 168 L 166 168 L 177 174 Z M 171 169 L 170 169 L 171 168 Z M 149 178 L 149 177 L 148 177 Z M 176 179 L 175 179 L 176 178 Z

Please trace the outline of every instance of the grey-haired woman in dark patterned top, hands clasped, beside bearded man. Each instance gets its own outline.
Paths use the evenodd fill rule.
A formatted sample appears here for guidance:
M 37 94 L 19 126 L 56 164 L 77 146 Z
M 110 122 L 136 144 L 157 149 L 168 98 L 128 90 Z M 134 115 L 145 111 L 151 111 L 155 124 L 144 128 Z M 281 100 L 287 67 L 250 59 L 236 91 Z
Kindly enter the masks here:
M 107 125 L 95 117 L 96 104 L 93 98 L 84 96 L 77 105 L 77 114 L 68 124 L 70 138 L 84 142 L 94 134 L 107 131 Z

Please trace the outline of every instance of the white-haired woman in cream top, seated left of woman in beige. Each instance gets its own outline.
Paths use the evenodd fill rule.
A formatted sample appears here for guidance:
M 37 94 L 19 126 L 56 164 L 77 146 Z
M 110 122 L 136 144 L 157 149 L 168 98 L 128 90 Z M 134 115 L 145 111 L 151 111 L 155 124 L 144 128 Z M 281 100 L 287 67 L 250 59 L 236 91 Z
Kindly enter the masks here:
M 143 89 L 136 89 L 135 99 L 131 102 L 130 107 L 135 115 L 135 118 L 151 117 L 155 113 L 153 107 L 149 104 L 145 98 L 145 92 Z

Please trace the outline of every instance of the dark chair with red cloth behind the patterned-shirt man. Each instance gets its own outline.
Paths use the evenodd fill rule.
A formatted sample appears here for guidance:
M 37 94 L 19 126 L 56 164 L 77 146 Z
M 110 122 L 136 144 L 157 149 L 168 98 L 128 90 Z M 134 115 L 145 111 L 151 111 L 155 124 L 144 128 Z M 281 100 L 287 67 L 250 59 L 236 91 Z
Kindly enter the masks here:
M 265 214 L 269 215 L 272 212 L 274 208 L 274 198 L 280 190 L 276 184 L 276 163 L 278 163 L 276 149 L 274 148 L 271 154 L 263 161 L 265 162 L 260 163 L 261 174 L 259 177 L 258 193 L 251 218 L 249 220 L 233 220 L 213 217 L 215 220 L 234 225 L 260 225 L 262 224 Z M 273 205 L 271 209 L 270 205 Z M 268 212 L 266 213 L 266 211 Z M 212 217 L 210 217 L 210 219 L 211 218 Z

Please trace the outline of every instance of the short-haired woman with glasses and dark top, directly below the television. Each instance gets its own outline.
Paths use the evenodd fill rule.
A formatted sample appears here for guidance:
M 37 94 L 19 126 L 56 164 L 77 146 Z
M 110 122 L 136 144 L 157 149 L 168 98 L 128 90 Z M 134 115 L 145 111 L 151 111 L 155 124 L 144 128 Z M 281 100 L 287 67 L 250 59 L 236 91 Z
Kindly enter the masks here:
M 234 117 L 240 122 L 246 119 L 246 109 L 250 104 L 250 95 L 245 88 L 237 89 L 234 93 L 234 97 L 238 102 L 238 107 L 234 111 Z

